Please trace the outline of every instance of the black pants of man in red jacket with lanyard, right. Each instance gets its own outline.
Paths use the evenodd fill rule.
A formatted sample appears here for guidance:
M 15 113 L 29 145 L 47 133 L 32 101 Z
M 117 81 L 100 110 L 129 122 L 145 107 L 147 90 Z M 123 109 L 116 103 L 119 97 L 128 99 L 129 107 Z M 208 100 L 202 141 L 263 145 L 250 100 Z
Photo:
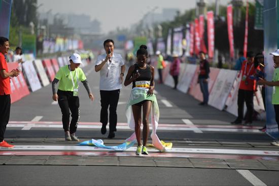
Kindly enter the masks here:
M 246 121 L 252 122 L 252 115 L 254 110 L 254 91 L 249 90 L 238 90 L 238 98 L 237 98 L 237 106 L 238 106 L 238 120 L 243 120 L 243 107 L 244 102 L 246 103 L 247 107 L 247 115 L 246 115 Z

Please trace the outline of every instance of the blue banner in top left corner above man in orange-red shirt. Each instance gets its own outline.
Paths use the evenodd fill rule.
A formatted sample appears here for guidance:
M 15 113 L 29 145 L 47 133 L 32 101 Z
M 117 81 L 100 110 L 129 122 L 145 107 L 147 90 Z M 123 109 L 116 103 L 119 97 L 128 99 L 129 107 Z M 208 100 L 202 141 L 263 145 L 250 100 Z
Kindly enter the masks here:
M 0 0 L 0 36 L 9 38 L 12 0 Z

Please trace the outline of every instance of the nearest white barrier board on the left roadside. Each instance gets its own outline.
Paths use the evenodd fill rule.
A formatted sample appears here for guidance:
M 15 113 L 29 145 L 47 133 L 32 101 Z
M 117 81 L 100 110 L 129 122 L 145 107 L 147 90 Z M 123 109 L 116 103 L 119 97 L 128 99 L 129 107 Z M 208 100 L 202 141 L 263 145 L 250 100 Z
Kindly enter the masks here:
M 37 72 L 33 66 L 32 61 L 25 61 L 22 63 L 25 79 L 27 80 L 32 92 L 42 88 Z

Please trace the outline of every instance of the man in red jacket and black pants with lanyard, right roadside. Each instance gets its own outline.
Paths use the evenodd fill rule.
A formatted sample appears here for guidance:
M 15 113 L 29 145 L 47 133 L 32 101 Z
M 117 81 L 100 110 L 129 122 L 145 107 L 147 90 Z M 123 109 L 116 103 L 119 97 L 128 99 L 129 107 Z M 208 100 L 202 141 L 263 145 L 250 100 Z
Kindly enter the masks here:
M 247 106 L 247 115 L 246 115 L 246 125 L 252 124 L 252 115 L 254 110 L 254 92 L 256 90 L 256 80 L 250 78 L 256 72 L 256 68 L 254 65 L 254 53 L 247 53 L 247 60 L 242 62 L 240 75 L 241 82 L 238 89 L 238 98 L 237 98 L 237 106 L 238 106 L 238 117 L 235 121 L 231 122 L 231 124 L 241 124 L 243 120 L 243 107 L 244 102 L 246 102 Z

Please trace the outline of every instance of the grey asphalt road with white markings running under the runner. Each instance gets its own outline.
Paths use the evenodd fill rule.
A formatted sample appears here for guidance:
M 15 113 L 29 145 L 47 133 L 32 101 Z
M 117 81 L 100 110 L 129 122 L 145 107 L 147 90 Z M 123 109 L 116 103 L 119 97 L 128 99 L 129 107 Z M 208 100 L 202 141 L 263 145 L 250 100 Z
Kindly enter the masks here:
M 83 70 L 95 100 L 81 84 L 76 135 L 81 141 L 121 144 L 133 132 L 125 116 L 131 86 L 121 90 L 116 137 L 108 139 L 100 133 L 99 74 L 93 68 Z M 199 106 L 190 95 L 162 84 L 155 90 L 157 135 L 173 146 L 164 153 L 149 148 L 142 157 L 134 154 L 136 144 L 115 152 L 65 142 L 50 85 L 13 103 L 5 140 L 16 147 L 0 149 L 0 185 L 279 185 L 279 148 L 258 130 L 264 122 L 231 125 L 235 117 L 225 111 Z

